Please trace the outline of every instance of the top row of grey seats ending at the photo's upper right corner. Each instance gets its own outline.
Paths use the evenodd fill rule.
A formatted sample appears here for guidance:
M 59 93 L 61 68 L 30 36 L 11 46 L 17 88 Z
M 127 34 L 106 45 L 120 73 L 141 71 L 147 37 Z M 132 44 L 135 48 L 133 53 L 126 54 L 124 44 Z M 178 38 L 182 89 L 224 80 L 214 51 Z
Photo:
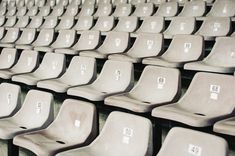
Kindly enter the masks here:
M 162 3 L 158 9 L 155 9 L 152 3 L 140 3 L 133 7 L 131 4 L 121 4 L 113 9 L 112 4 L 99 4 L 96 8 L 94 5 L 84 5 L 79 8 L 78 5 L 70 5 L 67 8 L 63 6 L 55 6 L 51 9 L 49 6 L 38 7 L 10 7 L 1 8 L 2 16 L 162 16 L 162 17 L 234 17 L 235 2 L 233 0 L 216 1 L 208 12 L 204 1 L 191 1 L 185 4 L 182 11 L 177 2 Z M 203 18 L 199 18 L 203 19 Z

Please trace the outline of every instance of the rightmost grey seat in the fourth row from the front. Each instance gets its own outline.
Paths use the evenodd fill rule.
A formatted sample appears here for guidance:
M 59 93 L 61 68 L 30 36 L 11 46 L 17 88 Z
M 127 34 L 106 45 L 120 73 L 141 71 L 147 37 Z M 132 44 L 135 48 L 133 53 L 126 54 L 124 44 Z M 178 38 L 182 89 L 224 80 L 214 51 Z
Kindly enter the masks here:
M 216 37 L 227 36 L 230 29 L 229 17 L 207 17 L 196 34 L 203 36 L 205 40 L 214 40 Z

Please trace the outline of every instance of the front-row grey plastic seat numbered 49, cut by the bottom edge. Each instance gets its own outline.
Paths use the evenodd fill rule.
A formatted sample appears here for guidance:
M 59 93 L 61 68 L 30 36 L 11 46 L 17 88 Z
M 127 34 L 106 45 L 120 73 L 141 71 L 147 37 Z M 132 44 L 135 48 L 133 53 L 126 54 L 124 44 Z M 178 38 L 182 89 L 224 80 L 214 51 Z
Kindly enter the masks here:
M 208 144 L 213 142 L 213 146 Z M 227 156 L 228 143 L 221 137 L 185 128 L 173 128 L 157 156 Z

